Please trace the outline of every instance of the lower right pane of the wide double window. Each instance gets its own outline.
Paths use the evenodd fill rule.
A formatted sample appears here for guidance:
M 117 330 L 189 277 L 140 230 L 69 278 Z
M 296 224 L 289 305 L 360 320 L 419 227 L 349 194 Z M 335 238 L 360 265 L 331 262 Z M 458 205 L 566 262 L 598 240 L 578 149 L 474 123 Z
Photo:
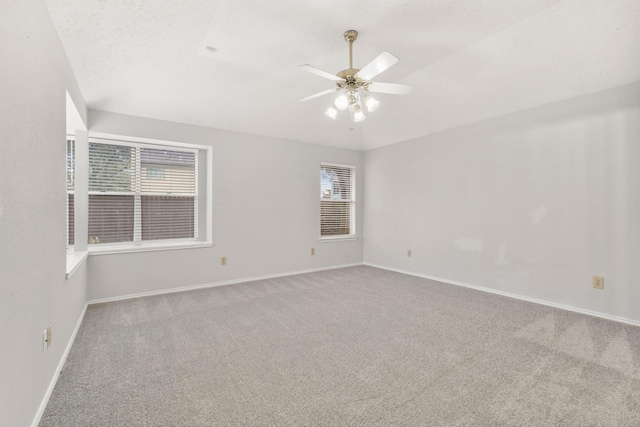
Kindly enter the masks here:
M 193 238 L 193 197 L 142 196 L 142 240 Z

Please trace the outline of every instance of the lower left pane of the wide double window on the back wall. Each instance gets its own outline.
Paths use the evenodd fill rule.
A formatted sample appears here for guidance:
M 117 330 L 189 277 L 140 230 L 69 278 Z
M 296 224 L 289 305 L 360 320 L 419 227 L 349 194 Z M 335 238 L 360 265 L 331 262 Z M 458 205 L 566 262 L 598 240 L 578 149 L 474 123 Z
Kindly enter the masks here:
M 89 243 L 132 242 L 134 196 L 89 195 Z

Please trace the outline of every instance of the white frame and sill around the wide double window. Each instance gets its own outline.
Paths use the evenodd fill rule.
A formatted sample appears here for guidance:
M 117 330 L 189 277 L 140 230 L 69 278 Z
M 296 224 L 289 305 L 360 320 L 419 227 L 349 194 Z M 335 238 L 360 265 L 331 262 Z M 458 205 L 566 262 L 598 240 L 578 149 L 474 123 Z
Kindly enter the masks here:
M 87 144 L 114 144 L 140 148 L 165 148 L 167 150 L 176 149 L 177 151 L 190 151 L 196 155 L 196 206 L 194 207 L 197 214 L 197 220 L 194 223 L 194 238 L 165 239 L 165 240 L 139 240 L 135 242 L 112 242 L 88 244 L 90 255 L 128 253 L 128 252 L 147 252 L 173 249 L 191 249 L 213 246 L 212 242 L 212 147 L 190 144 L 176 141 L 157 140 L 150 138 L 139 138 L 131 136 L 121 136 L 113 134 L 104 134 L 90 132 Z M 88 162 L 87 158 L 87 162 Z M 87 165 L 88 166 L 88 165 Z M 88 179 L 88 176 L 87 176 Z M 204 184 L 204 185 L 203 185 Z M 202 188 L 204 187 L 204 188 Z M 88 190 L 88 188 L 87 188 Z M 88 191 L 90 196 L 94 191 Z M 98 192 L 98 194 L 104 194 Z M 138 193 L 135 197 L 141 197 Z M 86 218 L 89 217 L 89 207 L 84 212 Z M 141 216 L 141 215 L 140 215 Z M 200 227 L 202 224 L 202 228 Z M 136 229 L 139 230 L 142 224 L 137 224 Z M 135 237 L 134 237 L 135 239 Z

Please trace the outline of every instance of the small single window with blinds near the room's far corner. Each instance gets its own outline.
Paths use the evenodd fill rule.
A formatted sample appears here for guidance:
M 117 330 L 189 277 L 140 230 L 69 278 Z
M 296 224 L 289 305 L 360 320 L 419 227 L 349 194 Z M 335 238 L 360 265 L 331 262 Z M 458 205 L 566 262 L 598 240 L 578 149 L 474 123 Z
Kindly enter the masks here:
M 355 166 L 320 164 L 320 236 L 354 237 L 356 234 Z

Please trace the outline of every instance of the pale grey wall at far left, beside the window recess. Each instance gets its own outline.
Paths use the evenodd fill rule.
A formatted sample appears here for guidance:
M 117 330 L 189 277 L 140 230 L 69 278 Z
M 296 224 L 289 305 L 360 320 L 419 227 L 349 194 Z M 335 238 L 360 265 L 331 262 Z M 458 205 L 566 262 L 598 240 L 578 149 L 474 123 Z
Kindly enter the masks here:
M 27 426 L 86 302 L 86 266 L 65 279 L 65 89 L 86 109 L 44 3 L 1 9 L 0 424 Z

